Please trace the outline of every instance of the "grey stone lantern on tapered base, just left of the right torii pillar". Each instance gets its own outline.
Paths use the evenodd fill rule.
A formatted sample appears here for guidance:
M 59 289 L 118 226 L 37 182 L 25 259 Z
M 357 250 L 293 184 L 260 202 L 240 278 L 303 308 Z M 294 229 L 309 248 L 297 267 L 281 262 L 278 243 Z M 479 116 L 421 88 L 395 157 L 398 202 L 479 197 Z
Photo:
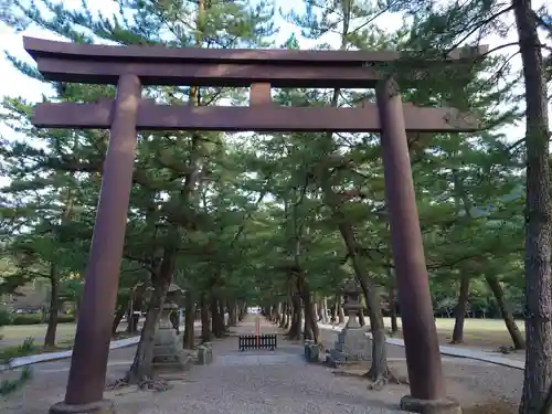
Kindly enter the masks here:
M 331 365 L 349 361 L 367 361 L 372 355 L 371 343 L 365 336 L 365 329 L 358 321 L 362 311 L 361 290 L 354 280 L 348 280 L 343 286 L 343 310 L 349 316 L 346 327 L 339 332 L 333 349 L 329 351 L 326 361 Z

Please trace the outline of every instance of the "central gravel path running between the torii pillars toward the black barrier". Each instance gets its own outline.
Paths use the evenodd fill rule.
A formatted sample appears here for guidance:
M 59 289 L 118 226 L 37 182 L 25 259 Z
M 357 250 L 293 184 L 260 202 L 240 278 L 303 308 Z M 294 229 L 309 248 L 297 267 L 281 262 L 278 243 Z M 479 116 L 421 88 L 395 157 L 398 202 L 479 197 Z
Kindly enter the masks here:
M 263 332 L 275 328 L 262 323 Z M 252 333 L 250 319 L 235 333 Z M 278 338 L 276 351 L 237 351 L 237 338 L 214 344 L 215 361 L 194 368 L 190 382 L 174 383 L 164 393 L 138 393 L 120 414 L 392 414 L 399 399 L 371 399 L 365 383 L 337 378 L 320 365 L 307 364 L 302 347 Z M 139 401 L 138 401 L 139 400 Z M 381 400 L 381 399 L 380 399 Z M 393 402 L 393 403 L 391 403 Z M 394 405 L 394 406 L 393 406 Z

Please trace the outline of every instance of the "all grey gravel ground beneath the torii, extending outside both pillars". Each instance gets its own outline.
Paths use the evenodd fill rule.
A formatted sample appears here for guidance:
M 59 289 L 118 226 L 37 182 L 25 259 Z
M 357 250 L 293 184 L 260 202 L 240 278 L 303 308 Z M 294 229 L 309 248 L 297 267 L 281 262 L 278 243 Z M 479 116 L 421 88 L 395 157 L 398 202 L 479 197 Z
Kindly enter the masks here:
M 235 331 L 250 333 L 253 322 Z M 275 331 L 263 323 L 264 331 Z M 322 331 L 329 346 L 337 332 Z M 106 393 L 116 402 L 118 414 L 325 414 L 325 413 L 399 413 L 397 404 L 407 392 L 403 385 L 390 385 L 383 391 L 368 391 L 367 382 L 331 374 L 321 365 L 307 364 L 302 347 L 278 338 L 278 349 L 237 352 L 237 338 L 214 342 L 215 361 L 208 367 L 194 367 L 174 378 L 172 389 L 155 393 L 126 388 Z M 128 368 L 132 348 L 110 354 L 109 378 L 119 378 Z M 404 369 L 404 350 L 389 347 L 388 353 L 396 369 Z M 67 361 L 34 365 L 35 380 L 24 391 L 7 402 L 0 402 L 3 414 L 44 414 L 51 404 L 63 399 Z M 470 405 L 489 397 L 519 401 L 522 371 L 474 362 L 444 359 L 449 394 Z

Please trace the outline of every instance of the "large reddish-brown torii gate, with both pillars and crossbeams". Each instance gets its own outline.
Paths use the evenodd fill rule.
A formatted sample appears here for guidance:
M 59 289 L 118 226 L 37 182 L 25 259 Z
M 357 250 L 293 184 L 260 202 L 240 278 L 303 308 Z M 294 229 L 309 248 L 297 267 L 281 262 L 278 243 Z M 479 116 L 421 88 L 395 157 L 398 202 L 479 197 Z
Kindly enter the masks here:
M 479 126 L 454 108 L 403 105 L 393 78 L 382 78 L 384 65 L 399 61 L 400 53 L 108 46 L 33 38 L 24 38 L 24 49 L 46 79 L 117 85 L 115 99 L 43 103 L 32 119 L 45 128 L 110 130 L 67 390 L 51 413 L 113 410 L 103 396 L 137 130 L 142 129 L 381 132 L 411 386 L 402 406 L 422 412 L 446 401 L 406 132 L 474 131 Z M 468 52 L 466 57 L 463 50 L 454 51 L 445 61 L 469 60 L 485 47 Z M 250 106 L 158 105 L 141 98 L 144 85 L 251 87 Z M 376 104 L 279 107 L 272 102 L 272 87 L 376 87 Z

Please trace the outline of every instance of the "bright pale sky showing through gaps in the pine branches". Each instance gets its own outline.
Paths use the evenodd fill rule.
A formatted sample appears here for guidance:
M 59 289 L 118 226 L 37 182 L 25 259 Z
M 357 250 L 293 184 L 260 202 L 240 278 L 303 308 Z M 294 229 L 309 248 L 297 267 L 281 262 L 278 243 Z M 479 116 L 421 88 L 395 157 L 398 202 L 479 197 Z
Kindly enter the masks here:
M 276 3 L 277 10 L 279 8 L 283 8 L 285 11 L 289 11 L 294 7 L 294 4 L 297 4 L 296 0 L 274 0 L 274 1 Z M 539 8 L 540 6 L 544 4 L 545 1 L 546 0 L 533 1 L 533 7 Z M 117 11 L 117 8 L 115 7 L 115 2 L 113 0 L 92 0 L 88 2 L 91 4 L 94 4 L 93 9 L 102 10 L 104 15 L 109 15 L 112 14 L 112 12 Z M 78 8 L 81 4 L 81 0 L 64 0 L 64 3 L 72 8 Z M 401 26 L 401 22 L 402 22 L 401 15 L 390 14 L 390 13 L 383 14 L 375 21 L 375 23 L 381 29 L 386 31 L 396 30 L 397 28 Z M 299 43 L 302 49 L 309 49 L 314 45 L 311 42 L 301 39 L 297 28 L 284 21 L 282 18 L 277 18 L 276 25 L 279 26 L 279 33 L 276 38 L 277 44 L 283 43 L 286 39 L 289 38 L 289 35 L 293 32 L 295 32 L 297 38 L 299 39 Z M 56 36 L 53 35 L 52 33 L 32 26 L 22 33 L 13 33 L 11 29 L 0 23 L 0 45 L 3 46 L 3 49 L 8 51 L 10 54 L 15 55 L 17 57 L 22 59 L 29 63 L 32 63 L 32 60 L 30 59 L 30 56 L 26 55 L 25 51 L 23 50 L 22 45 L 23 34 L 42 39 L 62 40 L 62 39 L 56 39 Z M 326 40 L 330 44 L 338 42 L 338 39 L 330 38 Z M 485 42 L 481 43 L 489 44 L 489 46 L 493 49 L 500 44 L 516 42 L 516 40 L 517 40 L 516 30 L 510 30 L 509 35 L 506 39 L 500 39 L 496 35 L 490 35 L 487 39 L 485 39 Z M 520 67 L 521 64 L 519 61 L 519 56 L 514 57 L 512 63 L 513 65 Z M 19 73 L 14 67 L 12 67 L 11 63 L 7 61 L 3 55 L 0 56 L 0 79 L 1 79 L 0 97 L 21 96 L 29 100 L 35 102 L 40 100 L 43 94 L 49 93 L 49 86 L 46 84 L 40 83 L 39 81 L 30 79 L 25 75 Z M 524 128 L 522 125 L 510 128 L 509 140 L 512 141 L 518 140 L 519 138 L 522 137 L 523 131 Z M 9 138 L 10 134 L 12 135 L 13 132 L 10 131 L 4 125 L 0 124 L 0 134 Z M 0 184 L 2 183 L 1 181 L 2 179 L 0 178 Z

